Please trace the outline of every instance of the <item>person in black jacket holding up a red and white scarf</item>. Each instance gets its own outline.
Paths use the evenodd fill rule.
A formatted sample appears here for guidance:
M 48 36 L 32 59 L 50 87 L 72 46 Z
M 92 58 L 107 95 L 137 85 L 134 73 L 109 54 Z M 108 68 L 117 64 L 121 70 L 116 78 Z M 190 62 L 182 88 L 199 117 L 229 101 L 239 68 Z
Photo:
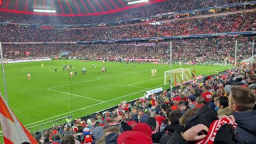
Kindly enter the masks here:
M 192 111 L 193 110 L 187 111 L 187 112 L 192 112 Z M 215 113 L 215 111 L 205 105 L 203 108 L 196 111 L 196 114 L 193 114 L 191 116 L 187 114 L 186 118 L 184 118 L 185 131 L 190 131 L 191 129 L 194 129 L 194 126 L 201 124 L 203 127 L 206 126 L 207 128 L 209 128 L 209 129 L 206 129 L 205 127 L 205 132 L 202 132 L 203 136 L 201 137 L 201 139 L 202 138 L 206 138 L 206 139 L 202 139 L 201 142 L 211 141 L 212 143 L 241 143 L 241 141 L 237 140 L 238 138 L 234 132 L 233 126 L 235 125 L 235 123 L 230 119 L 225 119 L 224 121 L 230 121 L 230 123 L 220 124 L 222 119 L 220 120 L 218 119 L 219 118 Z M 214 125 L 216 127 L 214 127 Z M 215 132 L 214 134 L 213 134 L 213 131 Z M 195 134 L 194 139 L 190 139 L 190 141 L 198 140 L 198 139 L 195 139 L 197 138 L 196 135 L 198 133 L 194 133 L 194 134 Z M 184 135 L 183 135 L 183 138 L 184 138 Z M 186 139 L 188 139 L 186 138 L 186 134 L 185 134 L 185 139 L 182 139 L 181 135 L 179 135 L 178 133 L 174 133 L 174 137 L 170 139 L 169 143 L 174 141 L 175 143 L 188 143 Z

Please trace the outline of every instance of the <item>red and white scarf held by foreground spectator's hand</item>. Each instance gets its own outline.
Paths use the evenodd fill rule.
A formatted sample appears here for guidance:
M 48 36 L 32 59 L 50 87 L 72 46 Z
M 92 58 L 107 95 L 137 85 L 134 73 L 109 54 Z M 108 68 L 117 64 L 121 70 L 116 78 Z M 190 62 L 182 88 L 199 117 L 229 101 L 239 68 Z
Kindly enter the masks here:
M 225 124 L 232 126 L 234 129 L 237 127 L 237 124 L 227 117 L 216 120 L 211 123 L 207 136 L 204 139 L 197 141 L 196 144 L 213 144 L 218 130 Z

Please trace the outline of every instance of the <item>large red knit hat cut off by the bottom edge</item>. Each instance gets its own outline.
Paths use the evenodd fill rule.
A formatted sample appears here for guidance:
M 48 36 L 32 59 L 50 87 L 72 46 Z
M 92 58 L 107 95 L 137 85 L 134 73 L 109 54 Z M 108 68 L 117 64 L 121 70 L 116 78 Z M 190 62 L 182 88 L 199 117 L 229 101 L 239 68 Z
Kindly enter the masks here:
M 121 137 L 121 135 L 124 135 Z M 118 144 L 128 144 L 128 143 L 140 143 L 140 144 L 152 144 L 153 141 L 146 134 L 136 131 L 129 133 L 122 133 L 117 139 Z

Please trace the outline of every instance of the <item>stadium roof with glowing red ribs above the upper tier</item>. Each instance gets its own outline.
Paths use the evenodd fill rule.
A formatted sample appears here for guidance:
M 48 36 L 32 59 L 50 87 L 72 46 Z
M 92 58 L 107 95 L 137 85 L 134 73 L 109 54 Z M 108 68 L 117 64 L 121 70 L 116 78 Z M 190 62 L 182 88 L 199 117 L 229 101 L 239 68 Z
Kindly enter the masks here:
M 1 1 L 1 0 L 0 0 Z M 149 0 L 146 3 L 128 5 L 137 0 L 2 0 L 0 11 L 54 16 L 101 15 L 124 11 L 164 0 Z M 37 10 L 55 10 L 56 13 L 34 12 Z

